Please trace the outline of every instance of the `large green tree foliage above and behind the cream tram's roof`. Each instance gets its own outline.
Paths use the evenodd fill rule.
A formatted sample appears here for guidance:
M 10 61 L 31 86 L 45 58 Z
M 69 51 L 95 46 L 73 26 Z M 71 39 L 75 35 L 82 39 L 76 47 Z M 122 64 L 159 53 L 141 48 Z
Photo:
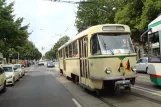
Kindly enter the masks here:
M 78 6 L 76 27 L 79 32 L 98 24 L 126 24 L 131 28 L 134 41 L 139 41 L 139 36 L 147 29 L 148 24 L 160 14 L 161 10 L 160 0 L 86 1 L 97 3 Z

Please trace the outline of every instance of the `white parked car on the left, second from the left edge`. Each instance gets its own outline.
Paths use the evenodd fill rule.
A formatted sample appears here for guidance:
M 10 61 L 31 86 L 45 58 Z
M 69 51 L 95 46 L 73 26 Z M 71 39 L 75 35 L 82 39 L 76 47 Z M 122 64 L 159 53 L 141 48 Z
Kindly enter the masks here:
M 14 85 L 19 80 L 19 71 L 14 68 L 14 65 L 3 65 L 3 69 L 6 75 L 6 85 Z

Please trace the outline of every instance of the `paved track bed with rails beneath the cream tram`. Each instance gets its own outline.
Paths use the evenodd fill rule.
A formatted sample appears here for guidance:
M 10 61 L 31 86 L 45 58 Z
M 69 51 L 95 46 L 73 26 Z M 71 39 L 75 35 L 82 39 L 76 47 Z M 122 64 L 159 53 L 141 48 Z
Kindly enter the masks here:
M 45 66 L 44 66 L 45 67 Z M 37 67 L 36 70 L 41 69 L 41 67 Z M 34 68 L 30 68 L 29 71 L 33 71 Z M 145 78 L 148 77 L 145 75 L 145 78 L 139 81 L 142 82 L 142 86 L 140 84 L 136 84 L 132 87 L 132 92 L 125 92 L 119 96 L 112 96 L 107 93 L 107 95 L 103 95 L 101 97 L 96 97 L 95 94 L 91 94 L 91 92 L 84 92 L 80 86 L 74 84 L 73 82 L 67 80 L 64 76 L 59 73 L 58 68 L 49 68 L 47 69 L 48 73 L 52 74 L 73 96 L 73 102 L 77 103 L 81 106 L 88 107 L 160 107 L 161 106 L 161 91 L 159 89 L 155 89 L 154 87 L 144 87 L 146 86 Z M 142 78 L 142 77 L 141 77 Z M 154 84 L 149 85 L 154 86 Z

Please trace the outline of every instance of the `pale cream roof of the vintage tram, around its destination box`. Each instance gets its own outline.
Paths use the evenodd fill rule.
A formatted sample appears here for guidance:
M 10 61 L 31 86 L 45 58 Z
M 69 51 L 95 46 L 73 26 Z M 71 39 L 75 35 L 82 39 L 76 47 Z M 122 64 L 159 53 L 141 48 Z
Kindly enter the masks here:
M 64 48 L 66 45 L 70 44 L 71 42 L 74 42 L 75 40 L 77 40 L 77 39 L 79 39 L 79 38 L 81 38 L 81 37 L 83 37 L 83 36 L 85 36 L 85 35 L 87 35 L 89 33 L 94 34 L 94 33 L 111 32 L 111 31 L 103 31 L 102 30 L 103 26 L 123 26 L 125 28 L 124 32 L 130 32 L 129 26 L 123 25 L 123 24 L 102 24 L 102 25 L 96 25 L 96 26 L 89 27 L 88 29 L 80 32 L 74 38 L 72 38 L 71 40 L 66 42 L 64 45 L 62 45 L 60 48 L 58 48 L 58 50 Z M 115 32 L 117 32 L 117 31 L 115 30 Z M 118 31 L 118 32 L 120 32 L 120 31 Z

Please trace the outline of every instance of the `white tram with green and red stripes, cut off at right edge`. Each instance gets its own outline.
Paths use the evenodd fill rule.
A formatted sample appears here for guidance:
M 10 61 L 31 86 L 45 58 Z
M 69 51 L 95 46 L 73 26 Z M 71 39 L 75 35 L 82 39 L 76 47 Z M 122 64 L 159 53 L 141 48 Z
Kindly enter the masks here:
M 153 83 L 161 86 L 161 15 L 148 25 L 147 32 L 148 74 Z

